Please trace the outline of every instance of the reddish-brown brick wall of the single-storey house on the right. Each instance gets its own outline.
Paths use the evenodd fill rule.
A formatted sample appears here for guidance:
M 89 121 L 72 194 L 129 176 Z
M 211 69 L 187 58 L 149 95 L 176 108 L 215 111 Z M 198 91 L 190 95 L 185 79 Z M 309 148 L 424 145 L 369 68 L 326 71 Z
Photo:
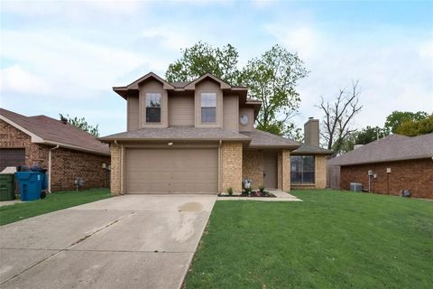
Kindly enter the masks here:
M 386 169 L 392 172 L 387 173 Z M 415 198 L 433 199 L 433 161 L 431 158 L 389 163 L 360 164 L 341 167 L 341 189 L 349 190 L 350 182 L 361 182 L 368 189 L 368 170 L 377 174 L 371 191 L 399 195 L 409 190 Z

